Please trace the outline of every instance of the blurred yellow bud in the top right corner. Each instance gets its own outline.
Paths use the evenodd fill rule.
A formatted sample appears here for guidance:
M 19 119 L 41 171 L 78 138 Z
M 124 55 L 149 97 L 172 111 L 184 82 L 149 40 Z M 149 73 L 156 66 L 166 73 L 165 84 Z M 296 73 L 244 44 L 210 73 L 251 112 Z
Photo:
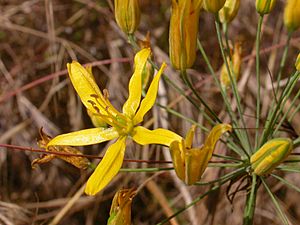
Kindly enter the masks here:
M 288 0 L 284 9 L 284 24 L 289 31 L 300 27 L 300 1 Z

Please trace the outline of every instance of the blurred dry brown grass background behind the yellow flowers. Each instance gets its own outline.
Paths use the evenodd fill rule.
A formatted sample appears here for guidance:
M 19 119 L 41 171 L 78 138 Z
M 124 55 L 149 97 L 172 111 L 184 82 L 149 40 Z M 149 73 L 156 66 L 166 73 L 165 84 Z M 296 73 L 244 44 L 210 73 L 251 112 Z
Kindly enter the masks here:
M 274 11 L 263 24 L 262 76 L 266 91 L 262 112 L 268 112 L 272 99 L 269 74 L 277 71 L 287 38 L 282 14 L 285 1 L 278 0 Z M 170 0 L 141 0 L 141 24 L 136 37 L 144 40 L 150 32 L 153 59 L 160 65 L 168 59 L 168 28 Z M 241 1 L 237 18 L 229 27 L 231 41 L 243 41 L 243 69 L 239 88 L 247 115 L 255 110 L 255 68 L 253 56 L 258 14 L 253 0 Z M 223 64 L 212 15 L 202 11 L 199 37 L 213 67 Z M 294 68 L 300 49 L 300 33 L 293 34 L 284 78 Z M 118 28 L 111 0 L 0 0 L 0 143 L 38 148 L 39 129 L 51 136 L 93 127 L 66 72 L 66 63 L 77 60 L 92 63 L 100 88 L 109 91 L 110 100 L 120 109 L 127 97 L 128 80 L 133 71 L 134 50 L 127 36 Z M 228 122 L 220 93 L 198 53 L 189 71 L 195 87 L 207 103 Z M 178 72 L 169 65 L 166 75 L 185 90 Z M 187 91 L 187 94 L 190 94 Z M 206 124 L 201 114 L 178 93 L 161 82 L 158 102 L 198 122 Z M 299 101 L 298 101 L 299 104 Z M 298 116 L 298 117 L 297 117 Z M 297 115 L 299 118 L 300 115 Z M 154 107 L 147 116 L 151 127 L 165 127 L 184 135 L 190 123 Z M 255 118 L 248 116 L 247 125 L 254 127 Z M 293 121 L 293 129 L 300 128 L 300 119 Z M 249 132 L 252 132 L 249 130 Z M 296 134 L 296 135 L 299 135 Z M 199 144 L 204 134 L 198 132 Z M 107 144 L 80 148 L 85 154 L 103 154 Z M 225 147 L 218 145 L 217 151 Z M 128 159 L 164 160 L 159 146 L 139 147 L 129 144 Z M 113 195 L 122 187 L 139 187 L 144 183 L 132 204 L 133 224 L 156 224 L 172 215 L 207 190 L 208 187 L 188 187 L 173 173 L 121 172 L 100 194 L 81 195 L 82 185 L 90 171 L 80 171 L 56 159 L 31 168 L 31 161 L 39 155 L 31 151 L 17 151 L 0 147 L 0 224 L 106 224 Z M 97 162 L 97 160 L 96 160 Z M 172 164 L 124 162 L 124 168 L 167 167 Z M 209 169 L 204 180 L 224 174 Z M 300 185 L 295 174 L 286 175 Z M 269 180 L 272 183 L 272 179 Z M 289 219 L 300 223 L 299 193 L 274 183 L 272 191 L 278 197 Z M 81 192 L 80 192 L 81 190 Z M 261 191 L 258 195 L 255 224 L 281 224 L 269 200 Z M 238 193 L 231 204 L 226 188 L 209 195 L 191 209 L 180 214 L 170 224 L 241 224 L 246 192 Z M 67 207 L 65 207 L 67 205 Z

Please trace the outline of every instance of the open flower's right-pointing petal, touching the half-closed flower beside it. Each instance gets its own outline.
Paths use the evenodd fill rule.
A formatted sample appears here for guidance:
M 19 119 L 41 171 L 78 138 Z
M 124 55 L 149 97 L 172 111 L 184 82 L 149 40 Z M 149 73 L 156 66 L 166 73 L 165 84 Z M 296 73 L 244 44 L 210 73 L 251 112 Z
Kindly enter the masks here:
M 173 141 L 181 141 L 182 139 L 178 134 L 166 129 L 158 128 L 155 130 L 148 130 L 142 126 L 134 128 L 132 138 L 140 145 L 161 144 L 168 147 Z

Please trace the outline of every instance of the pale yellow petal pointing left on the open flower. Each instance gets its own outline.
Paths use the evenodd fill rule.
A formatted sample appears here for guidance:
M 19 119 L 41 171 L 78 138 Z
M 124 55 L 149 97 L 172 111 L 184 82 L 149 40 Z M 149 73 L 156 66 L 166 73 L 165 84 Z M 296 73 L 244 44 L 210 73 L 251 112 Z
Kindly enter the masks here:
M 115 128 L 91 128 L 58 135 L 47 144 L 47 147 L 51 145 L 85 146 L 99 144 L 117 138 L 118 136 L 119 133 Z

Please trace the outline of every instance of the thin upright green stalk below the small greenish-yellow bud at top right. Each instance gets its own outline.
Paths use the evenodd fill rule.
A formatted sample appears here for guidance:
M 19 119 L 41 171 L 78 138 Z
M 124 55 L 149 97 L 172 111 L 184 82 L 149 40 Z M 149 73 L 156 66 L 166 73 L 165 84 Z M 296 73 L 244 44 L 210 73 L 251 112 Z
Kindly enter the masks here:
M 256 82 L 257 82 L 257 98 L 256 98 L 256 128 L 259 128 L 259 120 L 260 120 L 260 36 L 261 36 L 261 28 L 263 23 L 264 15 L 259 15 L 258 24 L 257 24 L 257 32 L 256 32 Z M 255 131 L 255 147 L 256 151 L 258 147 L 259 140 L 259 129 Z

